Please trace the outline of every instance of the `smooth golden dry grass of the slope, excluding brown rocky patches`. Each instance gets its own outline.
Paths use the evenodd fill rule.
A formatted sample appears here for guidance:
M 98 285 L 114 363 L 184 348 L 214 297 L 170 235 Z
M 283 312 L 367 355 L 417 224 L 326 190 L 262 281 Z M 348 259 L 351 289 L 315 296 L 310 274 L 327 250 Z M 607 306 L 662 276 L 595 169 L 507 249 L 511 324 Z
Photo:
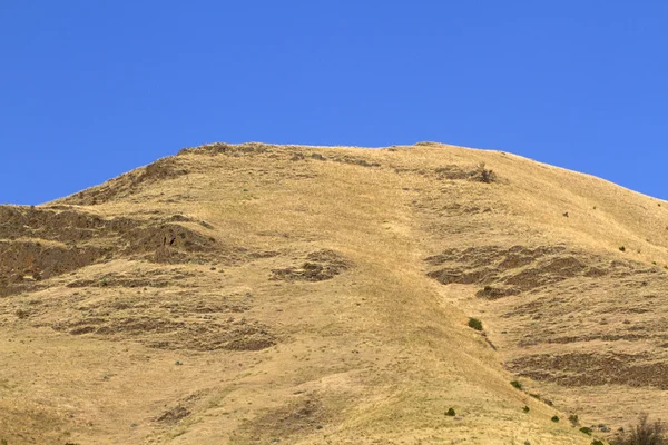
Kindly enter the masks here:
M 72 208 L 105 218 L 181 214 L 205 220 L 213 229 L 185 225 L 230 249 L 276 255 L 178 265 L 191 276 L 174 288 L 66 286 L 110 271 L 169 274 L 176 267 L 119 257 L 50 278 L 43 290 L 3 298 L 0 352 L 8 358 L 0 370 L 0 435 L 9 444 L 30 437 L 81 444 L 591 442 L 566 422 L 573 405 L 590 422 L 605 417 L 600 406 L 577 400 L 578 392 L 590 389 L 523 380 L 558 402 L 549 407 L 509 384 L 515 376 L 502 362 L 519 348 L 499 333 L 522 320 L 503 325 L 508 307 L 499 305 L 512 301 L 487 305 L 473 296 L 480 286 L 443 286 L 426 277 L 424 259 L 460 246 L 564 244 L 664 265 L 668 204 L 513 155 L 452 146 L 235 152 L 184 152 L 174 159 L 187 175 L 132 187 L 117 179 L 107 188 L 127 186 L 131 192 Z M 327 160 L 311 158 L 313 152 Z M 380 166 L 355 164 L 361 159 Z M 480 161 L 498 174 L 498 182 L 439 179 L 435 172 L 446 165 L 472 169 Z M 63 202 L 77 200 L 55 204 Z M 622 245 L 625 254 L 618 250 Z M 341 254 L 350 269 L 317 283 L 269 279 L 273 269 L 297 267 L 322 249 Z M 185 290 L 176 291 L 178 286 Z M 252 300 L 240 314 L 188 309 L 194 299 L 222 295 Z M 151 333 L 138 337 L 119 329 L 109 338 L 51 329 L 73 317 L 73 307 L 118 317 L 110 301 L 119 298 L 145 303 L 134 316 L 258 322 L 276 345 L 198 352 L 147 347 Z M 176 307 L 169 315 L 160 312 L 166 301 Z M 31 307 L 39 308 L 35 315 L 14 316 Z M 471 315 L 489 326 L 500 350 L 466 327 Z M 608 390 L 595 389 L 591 396 Z M 657 393 L 612 389 L 628 399 L 622 407 L 608 402 L 606 411 L 617 419 L 640 392 L 645 400 Z M 444 415 L 450 407 L 455 417 Z M 554 414 L 562 422 L 551 422 Z

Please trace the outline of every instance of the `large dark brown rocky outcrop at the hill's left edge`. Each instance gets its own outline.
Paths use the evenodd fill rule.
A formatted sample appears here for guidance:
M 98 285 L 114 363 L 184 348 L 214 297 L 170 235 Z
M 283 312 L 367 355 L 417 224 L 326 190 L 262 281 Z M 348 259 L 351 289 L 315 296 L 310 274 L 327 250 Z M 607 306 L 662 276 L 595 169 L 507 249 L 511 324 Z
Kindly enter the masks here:
M 215 238 L 178 224 L 187 217 L 167 220 L 0 206 L 0 295 L 115 257 L 163 264 L 240 259 L 243 249 L 223 247 Z

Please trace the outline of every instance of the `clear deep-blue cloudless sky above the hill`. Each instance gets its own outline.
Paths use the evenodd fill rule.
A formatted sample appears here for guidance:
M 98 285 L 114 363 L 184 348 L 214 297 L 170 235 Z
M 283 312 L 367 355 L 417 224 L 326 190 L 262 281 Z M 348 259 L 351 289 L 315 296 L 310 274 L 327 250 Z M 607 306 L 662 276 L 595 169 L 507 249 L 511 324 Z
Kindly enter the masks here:
M 495 148 L 668 199 L 668 1 L 0 1 L 0 202 L 212 141 Z

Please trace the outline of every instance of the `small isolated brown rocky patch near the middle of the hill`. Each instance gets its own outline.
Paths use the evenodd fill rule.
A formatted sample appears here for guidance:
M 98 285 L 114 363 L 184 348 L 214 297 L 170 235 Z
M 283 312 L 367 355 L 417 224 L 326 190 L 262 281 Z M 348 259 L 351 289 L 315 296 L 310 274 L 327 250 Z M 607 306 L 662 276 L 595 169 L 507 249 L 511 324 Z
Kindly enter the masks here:
M 271 279 L 285 281 L 324 281 L 351 267 L 350 261 L 334 250 L 313 251 L 299 267 L 273 269 Z

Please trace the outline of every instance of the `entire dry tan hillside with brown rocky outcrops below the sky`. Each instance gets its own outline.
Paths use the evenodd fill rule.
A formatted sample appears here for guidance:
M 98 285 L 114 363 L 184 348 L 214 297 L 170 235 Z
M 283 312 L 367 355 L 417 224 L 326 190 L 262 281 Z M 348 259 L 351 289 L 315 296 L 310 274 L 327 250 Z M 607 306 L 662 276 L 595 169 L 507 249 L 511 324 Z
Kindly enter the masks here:
M 3 206 L 0 439 L 589 445 L 668 419 L 667 225 L 430 142 L 214 144 Z

